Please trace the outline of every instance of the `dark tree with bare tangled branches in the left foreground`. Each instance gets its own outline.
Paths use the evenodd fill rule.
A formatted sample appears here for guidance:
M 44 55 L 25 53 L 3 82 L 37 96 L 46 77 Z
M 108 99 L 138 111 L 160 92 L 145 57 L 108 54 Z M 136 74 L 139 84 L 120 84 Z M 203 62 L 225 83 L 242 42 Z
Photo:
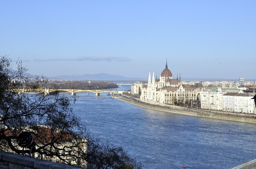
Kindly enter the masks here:
M 101 144 L 73 113 L 75 97 L 43 94 L 28 95 L 47 85 L 46 80 L 24 76 L 25 68 L 18 62 L 14 71 L 11 59 L 0 58 L 0 150 L 22 153 L 16 139 L 23 131 L 34 137 L 33 156 L 88 169 L 139 169 L 121 147 Z M 40 78 L 42 79 L 42 78 Z M 25 154 L 30 148 L 24 149 Z

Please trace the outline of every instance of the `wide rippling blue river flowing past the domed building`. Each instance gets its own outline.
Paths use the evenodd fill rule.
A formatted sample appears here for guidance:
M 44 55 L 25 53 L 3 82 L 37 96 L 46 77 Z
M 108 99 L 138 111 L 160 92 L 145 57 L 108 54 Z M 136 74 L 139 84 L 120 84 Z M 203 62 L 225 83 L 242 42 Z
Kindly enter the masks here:
M 74 112 L 91 133 L 144 169 L 228 169 L 256 158 L 256 124 L 148 110 L 107 93 L 76 95 Z

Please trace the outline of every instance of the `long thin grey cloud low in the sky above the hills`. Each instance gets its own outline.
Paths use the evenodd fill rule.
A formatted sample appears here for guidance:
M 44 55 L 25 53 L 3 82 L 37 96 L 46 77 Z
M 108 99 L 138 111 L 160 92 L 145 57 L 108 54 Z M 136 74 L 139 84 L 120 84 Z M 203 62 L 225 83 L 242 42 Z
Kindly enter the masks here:
M 94 62 L 101 62 L 101 61 L 107 61 L 107 62 L 129 62 L 132 59 L 127 57 L 109 57 L 109 56 L 91 56 L 91 57 L 82 57 L 82 58 L 54 58 L 54 59 L 34 59 L 34 62 L 52 62 L 52 61 L 94 61 Z

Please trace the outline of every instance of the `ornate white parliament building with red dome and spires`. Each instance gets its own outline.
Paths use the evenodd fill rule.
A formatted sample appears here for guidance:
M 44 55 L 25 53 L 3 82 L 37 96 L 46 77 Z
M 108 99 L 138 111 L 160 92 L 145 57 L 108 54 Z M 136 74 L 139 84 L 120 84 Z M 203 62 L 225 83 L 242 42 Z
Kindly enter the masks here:
M 165 69 L 160 78 L 156 78 L 154 72 L 151 78 L 149 72 L 147 84 L 141 84 L 140 89 L 140 99 L 144 101 L 184 106 L 198 102 L 203 85 L 201 83 L 193 86 L 182 85 L 181 77 L 178 79 L 178 75 L 177 79 L 173 79 L 173 74 L 168 69 L 166 60 Z

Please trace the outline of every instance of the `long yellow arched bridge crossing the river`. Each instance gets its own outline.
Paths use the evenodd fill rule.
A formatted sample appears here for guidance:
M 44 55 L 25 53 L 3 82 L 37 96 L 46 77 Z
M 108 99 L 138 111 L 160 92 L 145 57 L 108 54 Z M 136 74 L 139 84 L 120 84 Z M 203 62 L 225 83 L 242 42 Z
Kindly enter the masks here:
M 19 92 L 30 92 L 30 89 L 22 89 Z M 116 93 L 116 94 L 123 94 L 129 93 L 129 91 L 112 91 L 112 90 L 83 90 L 83 89 L 33 89 L 32 91 L 38 91 L 39 93 L 44 93 L 45 95 L 49 95 L 49 93 L 58 92 L 58 91 L 67 91 L 71 93 L 71 95 L 76 95 L 78 92 L 91 92 L 95 93 L 96 96 L 99 96 L 100 93 Z

